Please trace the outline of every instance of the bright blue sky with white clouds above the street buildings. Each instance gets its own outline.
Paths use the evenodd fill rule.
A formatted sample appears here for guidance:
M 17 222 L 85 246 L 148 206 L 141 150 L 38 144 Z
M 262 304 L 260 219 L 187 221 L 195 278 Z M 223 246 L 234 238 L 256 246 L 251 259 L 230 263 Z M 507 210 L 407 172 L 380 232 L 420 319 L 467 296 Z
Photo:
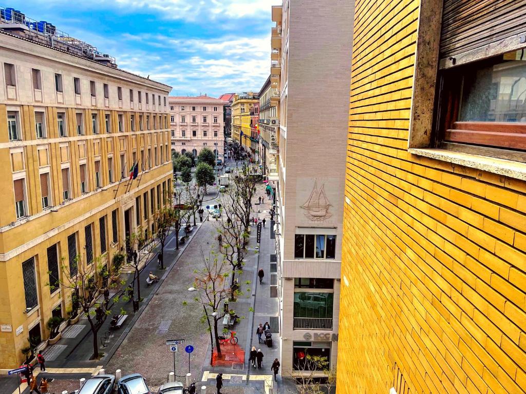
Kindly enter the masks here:
M 258 91 L 276 0 L 15 0 L 14 7 L 164 82 L 171 96 Z

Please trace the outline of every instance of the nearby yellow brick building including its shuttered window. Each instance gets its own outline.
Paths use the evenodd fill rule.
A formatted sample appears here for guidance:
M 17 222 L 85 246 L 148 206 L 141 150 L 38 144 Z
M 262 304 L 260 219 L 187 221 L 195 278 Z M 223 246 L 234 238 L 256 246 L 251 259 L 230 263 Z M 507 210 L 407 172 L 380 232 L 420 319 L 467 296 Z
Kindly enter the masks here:
M 506 4 L 356 1 L 339 394 L 526 390 L 526 5 Z

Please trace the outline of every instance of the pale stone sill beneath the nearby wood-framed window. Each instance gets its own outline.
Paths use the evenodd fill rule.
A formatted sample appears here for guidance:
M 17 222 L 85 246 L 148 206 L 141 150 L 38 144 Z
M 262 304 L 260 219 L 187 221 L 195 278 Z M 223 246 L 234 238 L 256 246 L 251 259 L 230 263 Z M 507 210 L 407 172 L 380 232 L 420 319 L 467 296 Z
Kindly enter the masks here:
M 526 163 L 446 149 L 409 148 L 409 153 L 526 181 Z

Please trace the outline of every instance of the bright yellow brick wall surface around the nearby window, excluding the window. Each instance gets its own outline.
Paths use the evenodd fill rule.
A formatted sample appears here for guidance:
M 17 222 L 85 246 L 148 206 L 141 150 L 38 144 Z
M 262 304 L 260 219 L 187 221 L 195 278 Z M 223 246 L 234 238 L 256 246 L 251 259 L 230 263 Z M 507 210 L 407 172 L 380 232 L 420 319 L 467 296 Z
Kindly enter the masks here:
M 408 153 L 418 11 L 356 1 L 338 394 L 523 393 L 526 182 Z

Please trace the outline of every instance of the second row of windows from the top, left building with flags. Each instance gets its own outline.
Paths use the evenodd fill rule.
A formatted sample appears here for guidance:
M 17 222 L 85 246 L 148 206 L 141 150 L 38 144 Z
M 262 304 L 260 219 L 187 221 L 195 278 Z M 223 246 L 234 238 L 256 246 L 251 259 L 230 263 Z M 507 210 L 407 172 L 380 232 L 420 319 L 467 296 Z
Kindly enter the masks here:
M 157 116 L 152 116 L 153 123 L 150 123 L 150 116 L 146 115 L 146 130 L 156 130 L 157 129 Z M 159 126 L 162 125 L 162 116 L 159 115 Z M 78 136 L 85 135 L 85 126 L 84 126 L 84 113 L 77 112 L 75 113 L 76 120 L 76 133 Z M 130 131 L 134 132 L 135 129 L 135 115 L 130 115 Z M 144 131 L 144 116 L 139 115 L 139 131 Z M 165 128 L 168 128 L 167 116 L 164 116 Z M 57 130 L 59 137 L 67 137 L 67 117 L 66 112 L 57 112 Z M 153 127 L 151 127 L 153 126 Z M 91 114 L 91 124 L 90 129 L 92 134 L 99 134 L 99 122 L 98 122 L 98 113 Z M 19 111 L 7 111 L 7 132 L 9 134 L 9 141 L 18 141 L 22 140 L 22 124 L 21 116 Z M 124 115 L 119 113 L 117 115 L 117 130 L 118 132 L 124 132 Z M 112 117 L 109 113 L 104 115 L 104 132 L 112 132 Z M 46 113 L 44 110 L 35 110 L 35 135 L 37 139 L 47 138 L 47 127 L 46 127 Z

